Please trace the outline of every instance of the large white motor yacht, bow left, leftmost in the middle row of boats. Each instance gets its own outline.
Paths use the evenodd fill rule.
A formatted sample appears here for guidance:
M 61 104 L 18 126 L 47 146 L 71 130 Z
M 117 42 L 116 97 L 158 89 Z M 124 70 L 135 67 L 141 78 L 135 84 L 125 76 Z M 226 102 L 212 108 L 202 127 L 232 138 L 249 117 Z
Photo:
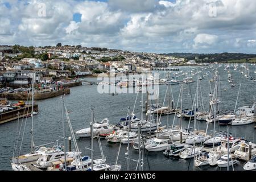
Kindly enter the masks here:
M 101 122 L 94 122 L 93 123 L 93 135 L 98 134 L 107 134 L 112 133 L 114 130 L 114 126 L 109 125 L 109 119 L 105 118 Z M 76 131 L 76 135 L 80 138 L 82 137 L 90 137 L 90 127 L 86 129 L 82 129 L 79 131 Z

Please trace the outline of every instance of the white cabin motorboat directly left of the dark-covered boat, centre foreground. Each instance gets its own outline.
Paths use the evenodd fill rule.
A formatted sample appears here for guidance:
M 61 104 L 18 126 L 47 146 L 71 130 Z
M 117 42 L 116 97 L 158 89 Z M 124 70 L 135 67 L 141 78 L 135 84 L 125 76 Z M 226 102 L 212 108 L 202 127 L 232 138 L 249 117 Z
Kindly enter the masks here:
M 145 146 L 147 151 L 150 152 L 159 152 L 166 150 L 172 144 L 171 139 L 169 137 L 158 137 L 155 138 L 154 141 L 147 146 Z

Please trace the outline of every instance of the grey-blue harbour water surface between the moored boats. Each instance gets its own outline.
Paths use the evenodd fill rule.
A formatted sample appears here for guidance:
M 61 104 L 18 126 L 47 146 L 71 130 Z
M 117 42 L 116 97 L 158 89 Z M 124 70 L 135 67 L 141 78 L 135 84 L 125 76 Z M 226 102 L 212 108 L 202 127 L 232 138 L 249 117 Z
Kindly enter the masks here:
M 181 67 L 180 71 L 188 72 L 191 69 L 195 68 L 197 71 L 197 67 Z M 201 68 L 199 68 L 200 70 Z M 238 68 L 238 70 L 240 67 Z M 254 66 L 250 66 L 251 75 L 254 74 Z M 253 105 L 254 97 L 255 97 L 255 89 L 256 82 L 251 81 L 248 78 L 245 78 L 240 74 L 239 71 L 234 71 L 230 69 L 232 73 L 232 77 L 234 82 L 236 83 L 235 88 L 231 88 L 230 83 L 227 81 L 228 73 L 224 71 L 224 67 L 218 68 L 218 72 L 220 73 L 220 108 L 221 110 L 234 110 L 237 100 L 237 94 L 239 89 L 239 84 L 241 83 L 241 93 L 238 99 L 237 107 L 244 105 Z M 211 71 L 208 76 L 205 76 L 203 80 L 200 81 L 201 89 L 203 93 L 203 100 L 205 104 L 205 108 L 208 110 L 209 106 L 209 80 L 213 78 L 212 69 L 207 69 L 207 71 Z M 203 71 L 204 74 L 205 71 Z M 164 72 L 159 72 L 162 74 Z M 96 81 L 97 78 L 86 78 L 90 81 Z M 179 79 L 179 78 L 178 78 Z M 194 78 L 196 81 L 196 77 Z M 212 89 L 214 88 L 214 83 L 212 84 Z M 195 96 L 196 92 L 196 82 L 191 85 L 191 93 L 192 96 Z M 104 118 L 108 118 L 110 123 L 116 124 L 119 119 L 122 117 L 126 117 L 127 107 L 130 106 L 133 108 L 135 103 L 135 98 L 137 94 L 117 94 L 112 96 L 112 94 L 100 94 L 97 92 L 98 85 L 84 85 L 77 86 L 71 88 L 71 94 L 65 96 L 65 104 L 69 110 L 69 117 L 72 122 L 72 127 L 74 131 L 79 129 L 89 127 L 90 125 L 90 105 L 94 106 L 94 115 L 97 121 L 101 121 Z M 185 87 L 185 86 L 184 86 Z M 166 93 L 167 85 L 159 85 L 159 102 L 163 102 L 164 95 Z M 184 108 L 187 106 L 187 88 L 184 88 Z M 179 96 L 180 85 L 172 85 L 172 92 L 174 94 L 174 101 L 177 102 L 177 97 Z M 146 96 L 144 97 L 144 99 Z M 138 118 L 141 118 L 141 94 L 138 95 L 138 101 L 135 105 L 135 115 Z M 189 96 L 189 108 L 191 109 L 191 96 Z M 62 123 L 62 100 L 60 97 L 49 98 L 47 100 L 36 101 L 39 107 L 39 114 L 34 117 L 34 140 L 35 145 L 40 145 L 44 143 L 53 142 L 59 140 L 59 144 L 62 143 L 63 138 L 63 123 Z M 174 121 L 174 115 L 170 115 L 169 123 L 172 125 Z M 26 122 L 26 130 L 24 131 L 24 139 L 22 148 L 20 150 L 20 154 L 26 154 L 30 151 L 30 129 L 31 129 L 31 118 L 27 118 L 27 121 L 23 121 L 23 125 Z M 162 116 L 161 118 L 162 125 L 166 125 L 167 116 Z M 22 120 L 19 121 L 19 125 L 22 123 Z M 179 120 L 175 120 L 175 125 L 178 125 Z M 17 135 L 17 121 L 5 123 L 0 125 L 1 133 L 0 133 L 0 169 L 1 170 L 11 170 L 10 158 L 13 156 L 14 151 L 14 141 Z M 205 130 L 207 127 L 207 122 L 197 122 L 196 125 L 198 129 Z M 191 123 L 191 127 L 193 127 L 194 123 Z M 255 124 L 245 125 L 245 126 L 231 126 L 230 132 L 233 134 L 233 137 L 243 137 L 251 142 L 256 142 L 256 130 L 254 129 Z M 188 127 L 188 121 L 183 121 L 183 127 Z M 68 125 L 66 127 L 67 136 L 70 136 L 70 131 L 68 129 Z M 217 131 L 226 130 L 225 126 L 216 125 Z M 23 131 L 22 131 L 23 132 Z M 212 134 L 213 132 L 213 123 L 209 123 L 208 133 Z M 22 135 L 22 134 L 21 134 Z M 82 152 L 82 155 L 89 155 L 90 150 L 86 149 L 90 148 L 90 139 L 77 139 L 77 143 Z M 108 143 L 105 139 L 101 139 L 101 145 L 103 148 L 104 155 L 106 156 L 107 163 L 115 163 L 117 158 L 119 144 Z M 122 144 L 121 151 L 118 158 L 118 163 L 122 164 L 122 170 L 126 170 L 127 159 L 125 158 L 127 145 Z M 134 160 L 138 160 L 138 151 L 131 150 L 131 158 Z M 98 146 L 98 140 L 94 140 L 94 156 L 100 157 L 100 148 Z M 163 152 L 147 152 L 145 151 L 144 155 L 144 169 L 147 170 L 193 170 L 193 159 L 184 160 L 184 159 L 172 159 L 166 158 L 163 155 Z M 238 165 L 234 166 L 235 170 L 242 170 L 243 164 L 245 162 L 239 162 Z M 129 169 L 135 170 L 137 166 L 137 162 L 132 160 L 129 161 Z M 232 169 L 232 168 L 231 168 Z M 220 170 L 218 167 L 200 167 L 196 168 L 196 170 Z M 222 170 L 225 170 L 223 168 Z

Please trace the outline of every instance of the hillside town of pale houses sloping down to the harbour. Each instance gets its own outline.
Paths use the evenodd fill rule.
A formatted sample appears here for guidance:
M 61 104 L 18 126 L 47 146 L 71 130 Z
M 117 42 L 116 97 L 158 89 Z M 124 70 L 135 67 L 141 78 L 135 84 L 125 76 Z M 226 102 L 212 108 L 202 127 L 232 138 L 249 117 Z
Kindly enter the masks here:
M 35 73 L 35 83 L 97 75 L 97 73 L 141 72 L 184 63 L 184 59 L 156 53 L 117 49 L 61 46 L 0 46 L 0 80 L 13 88 L 26 87 Z M 190 64 L 190 62 L 189 62 Z

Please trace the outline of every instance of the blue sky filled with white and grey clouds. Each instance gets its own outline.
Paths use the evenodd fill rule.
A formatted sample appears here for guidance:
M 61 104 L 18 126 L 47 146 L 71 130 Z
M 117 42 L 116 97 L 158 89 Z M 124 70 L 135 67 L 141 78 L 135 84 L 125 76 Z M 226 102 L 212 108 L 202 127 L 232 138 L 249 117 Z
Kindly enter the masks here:
M 0 0 L 0 44 L 256 53 L 256 1 Z

